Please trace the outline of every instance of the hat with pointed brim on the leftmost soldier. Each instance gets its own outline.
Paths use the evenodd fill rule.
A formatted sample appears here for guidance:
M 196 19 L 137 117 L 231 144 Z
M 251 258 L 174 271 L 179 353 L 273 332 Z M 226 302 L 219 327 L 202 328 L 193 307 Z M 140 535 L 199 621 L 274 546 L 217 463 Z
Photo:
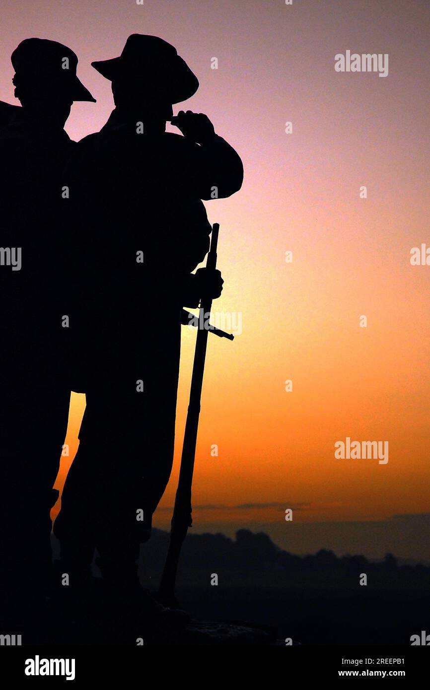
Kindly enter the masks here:
M 37 83 L 50 83 L 52 94 L 61 90 L 72 101 L 92 101 L 88 89 L 76 75 L 77 56 L 67 46 L 48 39 L 25 39 L 19 43 L 10 57 L 15 78 L 22 77 Z

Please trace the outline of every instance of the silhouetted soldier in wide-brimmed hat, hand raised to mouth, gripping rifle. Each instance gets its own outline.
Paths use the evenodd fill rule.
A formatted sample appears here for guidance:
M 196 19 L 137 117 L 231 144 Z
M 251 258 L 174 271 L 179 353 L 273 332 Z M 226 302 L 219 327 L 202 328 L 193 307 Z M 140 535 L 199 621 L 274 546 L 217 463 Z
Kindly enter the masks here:
M 121 57 L 92 65 L 112 81 L 116 108 L 68 168 L 74 389 L 87 406 L 55 533 L 71 586 L 90 586 L 97 547 L 124 615 L 138 603 L 168 620 L 140 588 L 136 560 L 173 463 L 182 306 L 222 290 L 219 271 L 191 274 L 209 247 L 202 199 L 235 193 L 243 168 L 206 115 L 173 117 L 199 83 L 169 43 L 133 34 Z M 167 133 L 168 120 L 184 136 Z

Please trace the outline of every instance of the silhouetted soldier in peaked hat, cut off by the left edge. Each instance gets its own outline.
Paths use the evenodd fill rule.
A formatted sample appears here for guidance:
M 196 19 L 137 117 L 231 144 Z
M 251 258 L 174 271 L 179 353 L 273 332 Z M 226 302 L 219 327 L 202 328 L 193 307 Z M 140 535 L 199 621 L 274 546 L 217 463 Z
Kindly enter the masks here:
M 7 604 L 17 620 L 20 607 L 28 613 L 50 569 L 52 486 L 70 399 L 58 211 L 68 203 L 62 170 L 75 142 L 63 126 L 73 101 L 95 101 L 77 78 L 75 53 L 61 43 L 26 39 L 12 65 L 22 107 L 0 104 L 3 621 Z

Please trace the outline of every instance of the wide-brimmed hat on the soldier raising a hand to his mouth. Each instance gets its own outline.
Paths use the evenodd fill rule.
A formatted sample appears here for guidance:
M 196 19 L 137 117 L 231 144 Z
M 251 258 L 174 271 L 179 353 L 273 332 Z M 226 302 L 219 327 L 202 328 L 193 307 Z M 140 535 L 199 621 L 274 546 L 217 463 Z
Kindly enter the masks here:
M 176 48 L 157 36 L 132 34 L 119 57 L 91 64 L 110 81 L 141 79 L 142 90 L 172 104 L 186 101 L 199 88 L 199 80 Z

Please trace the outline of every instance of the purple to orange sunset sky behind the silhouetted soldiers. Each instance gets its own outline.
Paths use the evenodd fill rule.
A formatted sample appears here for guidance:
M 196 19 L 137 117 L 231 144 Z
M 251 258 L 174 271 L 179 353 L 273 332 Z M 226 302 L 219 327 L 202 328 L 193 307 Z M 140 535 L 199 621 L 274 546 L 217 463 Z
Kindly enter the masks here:
M 242 333 L 209 337 L 195 531 L 264 529 L 297 553 L 430 560 L 430 266 L 410 263 L 411 248 L 430 247 L 429 25 L 427 0 L 2 2 L 0 100 L 17 102 L 19 41 L 66 43 L 97 99 L 72 107 L 66 130 L 79 140 L 113 108 L 90 62 L 119 55 L 131 33 L 155 34 L 200 81 L 174 112 L 205 112 L 244 162 L 242 190 L 205 202 L 225 280 L 213 311 L 242 319 Z M 346 50 L 388 54 L 389 75 L 335 72 Z M 175 466 L 154 521 L 163 528 L 194 343 L 183 328 Z M 73 394 L 72 454 L 83 407 Z M 335 459 L 346 437 L 388 441 L 389 462 Z

